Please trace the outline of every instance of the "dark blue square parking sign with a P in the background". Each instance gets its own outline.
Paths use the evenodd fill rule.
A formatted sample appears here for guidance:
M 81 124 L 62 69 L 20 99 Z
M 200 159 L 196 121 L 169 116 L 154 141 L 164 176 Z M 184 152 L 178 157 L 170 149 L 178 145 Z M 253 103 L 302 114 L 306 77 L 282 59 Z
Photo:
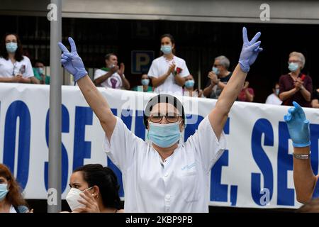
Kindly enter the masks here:
M 154 51 L 152 50 L 132 50 L 131 52 L 131 73 L 142 74 L 148 72 L 154 60 Z

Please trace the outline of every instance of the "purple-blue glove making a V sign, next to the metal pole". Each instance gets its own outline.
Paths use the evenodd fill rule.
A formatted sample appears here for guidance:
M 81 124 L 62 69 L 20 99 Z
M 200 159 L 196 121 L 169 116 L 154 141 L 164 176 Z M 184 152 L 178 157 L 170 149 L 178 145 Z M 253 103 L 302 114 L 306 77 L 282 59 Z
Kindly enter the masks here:
M 63 67 L 65 67 L 65 70 L 74 76 L 74 80 L 77 82 L 80 78 L 87 75 L 82 59 L 77 54 L 77 47 L 75 46 L 74 40 L 69 37 L 71 52 L 69 52 L 62 43 L 58 43 L 58 45 L 63 52 L 61 56 L 61 63 Z

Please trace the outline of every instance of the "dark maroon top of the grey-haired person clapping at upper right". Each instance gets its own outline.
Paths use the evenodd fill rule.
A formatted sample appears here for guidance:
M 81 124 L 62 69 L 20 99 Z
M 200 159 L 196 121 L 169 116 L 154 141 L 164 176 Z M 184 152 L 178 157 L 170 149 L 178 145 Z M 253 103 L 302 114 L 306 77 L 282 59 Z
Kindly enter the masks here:
M 299 74 L 298 77 L 302 77 L 303 74 Z M 293 89 L 295 86 L 293 85 L 293 79 L 291 78 L 290 74 L 282 75 L 279 78 L 279 94 L 282 92 L 288 92 Z M 308 75 L 305 75 L 303 79 L 303 87 L 308 90 L 308 92 L 313 91 L 313 80 Z M 311 107 L 311 102 L 306 101 L 301 94 L 301 91 L 296 92 L 293 96 L 289 97 L 288 99 L 284 100 L 281 105 L 283 106 L 293 106 L 293 101 L 296 101 L 299 105 L 303 107 Z

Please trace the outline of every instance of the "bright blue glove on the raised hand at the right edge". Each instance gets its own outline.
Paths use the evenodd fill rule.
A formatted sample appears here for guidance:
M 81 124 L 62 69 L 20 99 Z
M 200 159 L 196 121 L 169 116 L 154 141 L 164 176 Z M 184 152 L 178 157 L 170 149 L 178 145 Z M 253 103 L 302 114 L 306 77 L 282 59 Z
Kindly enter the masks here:
M 293 147 L 308 147 L 310 145 L 309 121 L 296 101 L 293 101 L 293 106 L 288 110 L 288 114 L 284 116 L 290 137 L 293 140 Z

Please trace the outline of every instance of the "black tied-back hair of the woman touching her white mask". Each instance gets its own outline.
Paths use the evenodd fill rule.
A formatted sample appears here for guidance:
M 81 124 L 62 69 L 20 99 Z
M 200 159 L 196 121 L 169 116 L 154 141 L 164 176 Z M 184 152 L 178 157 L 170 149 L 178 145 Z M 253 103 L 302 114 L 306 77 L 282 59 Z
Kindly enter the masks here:
M 99 187 L 105 207 L 120 209 L 121 199 L 118 196 L 120 185 L 113 170 L 100 164 L 88 164 L 73 172 L 83 172 L 84 181 L 89 184 L 89 187 Z

